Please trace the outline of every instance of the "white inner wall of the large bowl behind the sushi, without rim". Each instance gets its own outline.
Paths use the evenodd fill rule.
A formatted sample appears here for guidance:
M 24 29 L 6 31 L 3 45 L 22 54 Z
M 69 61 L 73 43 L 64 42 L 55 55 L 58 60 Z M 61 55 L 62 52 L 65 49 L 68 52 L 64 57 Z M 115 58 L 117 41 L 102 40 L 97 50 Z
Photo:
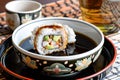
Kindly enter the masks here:
M 61 23 L 65 25 L 69 25 L 74 29 L 74 31 L 82 33 L 84 35 L 89 36 L 93 39 L 97 44 L 101 42 L 102 36 L 98 32 L 98 30 L 88 23 L 83 21 L 74 21 L 74 20 L 63 20 L 63 19 L 43 19 L 43 20 L 36 20 L 34 22 L 28 23 L 26 25 L 22 25 L 19 29 L 17 29 L 16 33 L 14 34 L 14 42 L 19 45 L 19 43 L 26 39 L 27 37 L 31 36 L 32 31 L 35 27 L 40 25 L 48 25 L 53 23 Z

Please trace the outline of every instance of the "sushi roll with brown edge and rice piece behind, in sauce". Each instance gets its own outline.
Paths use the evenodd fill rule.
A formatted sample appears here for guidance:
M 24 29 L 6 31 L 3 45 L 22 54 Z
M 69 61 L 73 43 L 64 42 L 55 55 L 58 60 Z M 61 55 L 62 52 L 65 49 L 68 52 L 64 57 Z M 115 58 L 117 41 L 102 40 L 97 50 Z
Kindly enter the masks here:
M 63 51 L 69 43 L 75 43 L 75 33 L 68 25 L 52 24 L 39 26 L 32 32 L 32 42 L 39 54 Z

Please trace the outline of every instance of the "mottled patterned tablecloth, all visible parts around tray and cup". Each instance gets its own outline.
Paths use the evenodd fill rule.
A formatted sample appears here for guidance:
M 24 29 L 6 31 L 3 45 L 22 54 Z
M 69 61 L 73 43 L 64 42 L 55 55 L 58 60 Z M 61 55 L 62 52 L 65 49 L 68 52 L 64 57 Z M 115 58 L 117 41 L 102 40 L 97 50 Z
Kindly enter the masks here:
M 115 3 L 120 5 L 119 3 Z M 116 7 L 116 6 L 114 6 Z M 118 10 L 113 11 L 117 16 L 120 17 L 120 7 L 116 7 Z M 79 10 L 78 0 L 60 0 L 57 2 L 46 4 L 42 9 L 42 14 L 44 17 L 72 17 L 81 19 L 81 14 Z M 120 23 L 120 19 L 119 19 Z M 120 25 L 120 24 L 119 24 Z M 12 31 L 6 25 L 5 12 L 0 13 L 0 44 L 3 43 L 11 35 Z M 120 80 L 120 33 L 114 33 L 107 36 L 116 46 L 117 49 L 117 59 L 112 66 L 112 70 L 103 80 Z M 4 76 L 0 74 L 0 80 L 5 80 Z

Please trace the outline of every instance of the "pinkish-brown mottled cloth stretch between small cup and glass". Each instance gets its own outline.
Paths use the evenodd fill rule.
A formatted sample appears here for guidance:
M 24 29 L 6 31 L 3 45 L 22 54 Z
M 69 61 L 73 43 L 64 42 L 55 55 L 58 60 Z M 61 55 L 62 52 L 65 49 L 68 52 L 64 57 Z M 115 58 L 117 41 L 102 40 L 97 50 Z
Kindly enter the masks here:
M 44 17 L 79 18 L 81 11 L 78 0 L 59 0 L 45 5 L 42 10 Z

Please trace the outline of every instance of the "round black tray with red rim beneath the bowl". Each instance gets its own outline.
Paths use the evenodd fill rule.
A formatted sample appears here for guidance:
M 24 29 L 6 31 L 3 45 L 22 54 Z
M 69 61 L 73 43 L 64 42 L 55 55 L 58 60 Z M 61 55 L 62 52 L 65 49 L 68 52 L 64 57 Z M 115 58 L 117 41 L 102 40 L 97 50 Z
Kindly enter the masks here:
M 71 77 L 49 77 L 40 74 L 38 71 L 33 70 L 25 66 L 14 52 L 11 37 L 8 38 L 0 48 L 1 67 L 3 68 L 2 74 L 8 80 L 81 80 L 81 79 L 93 79 L 100 80 L 106 76 L 111 70 L 111 66 L 116 59 L 116 50 L 110 40 L 105 38 L 102 54 L 97 61 L 91 64 L 87 69 L 81 71 L 79 74 Z

